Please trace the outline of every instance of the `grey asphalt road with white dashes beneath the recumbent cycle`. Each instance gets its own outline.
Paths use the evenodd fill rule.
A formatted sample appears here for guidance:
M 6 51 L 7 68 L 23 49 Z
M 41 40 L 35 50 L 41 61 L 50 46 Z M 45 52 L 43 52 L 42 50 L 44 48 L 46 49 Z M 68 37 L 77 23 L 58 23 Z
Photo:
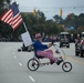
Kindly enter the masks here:
M 73 65 L 69 73 L 55 64 L 29 71 L 27 63 L 33 58 L 33 52 L 18 52 L 21 45 L 20 42 L 0 42 L 0 83 L 84 83 L 84 58 L 75 56 L 74 43 L 70 49 L 62 48 L 66 61 Z M 51 49 L 54 51 L 53 46 Z

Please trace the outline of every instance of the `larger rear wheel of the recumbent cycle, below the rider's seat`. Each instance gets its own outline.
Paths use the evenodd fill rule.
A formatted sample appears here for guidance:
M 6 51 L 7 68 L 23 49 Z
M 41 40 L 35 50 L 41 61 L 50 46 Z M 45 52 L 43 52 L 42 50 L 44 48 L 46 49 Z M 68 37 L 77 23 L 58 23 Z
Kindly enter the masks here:
M 32 63 L 31 66 L 30 63 Z M 36 65 L 36 68 L 34 65 Z M 30 59 L 27 63 L 27 66 L 30 71 L 36 71 L 39 69 L 39 61 L 36 59 Z

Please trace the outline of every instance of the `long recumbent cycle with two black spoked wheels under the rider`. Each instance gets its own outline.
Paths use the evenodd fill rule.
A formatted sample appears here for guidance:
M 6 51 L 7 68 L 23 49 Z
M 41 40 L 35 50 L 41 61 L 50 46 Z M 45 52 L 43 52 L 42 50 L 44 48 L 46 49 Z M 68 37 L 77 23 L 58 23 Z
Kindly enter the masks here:
M 55 44 L 53 43 L 53 46 L 55 48 Z M 56 45 L 57 46 L 57 45 Z M 34 51 L 34 50 L 33 50 Z M 63 51 L 63 50 L 62 50 Z M 63 52 L 64 53 L 64 52 Z M 45 63 L 42 63 L 41 62 L 41 59 L 45 59 L 43 56 L 40 56 L 40 55 L 36 55 L 35 51 L 34 51 L 34 56 L 32 59 L 30 59 L 27 63 L 27 66 L 30 71 L 36 71 L 40 66 L 45 66 L 45 65 L 49 65 L 51 64 L 50 62 L 45 62 Z M 61 56 L 60 54 L 60 58 L 59 60 L 63 60 L 63 62 L 61 63 L 62 64 L 62 70 L 64 72 L 70 72 L 72 70 L 72 64 L 71 62 L 67 62 L 65 61 L 65 58 L 63 59 L 63 56 Z M 54 62 L 55 63 L 55 62 Z M 56 64 L 56 63 L 55 63 Z

